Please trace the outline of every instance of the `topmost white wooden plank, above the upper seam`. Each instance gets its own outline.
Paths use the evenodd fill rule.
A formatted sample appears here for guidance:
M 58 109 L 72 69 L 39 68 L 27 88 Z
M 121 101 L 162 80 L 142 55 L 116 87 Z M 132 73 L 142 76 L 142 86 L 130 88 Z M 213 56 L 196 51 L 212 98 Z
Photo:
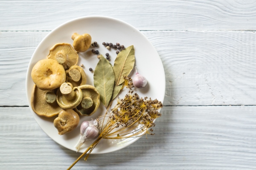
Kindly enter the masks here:
M 0 31 L 50 31 L 89 15 L 140 30 L 256 30 L 255 0 L 1 0 Z

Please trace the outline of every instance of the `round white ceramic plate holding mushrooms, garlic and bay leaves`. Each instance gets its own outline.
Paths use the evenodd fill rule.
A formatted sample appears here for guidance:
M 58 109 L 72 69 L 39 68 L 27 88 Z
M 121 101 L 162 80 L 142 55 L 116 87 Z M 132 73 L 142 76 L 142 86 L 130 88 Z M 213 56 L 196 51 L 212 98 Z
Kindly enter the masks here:
M 38 125 L 55 142 L 70 150 L 75 150 L 74 146 L 79 139 L 81 122 L 90 120 L 91 118 L 96 119 L 98 116 L 103 115 L 105 113 L 104 106 L 100 104 L 99 109 L 92 116 L 80 116 L 80 123 L 78 127 L 76 127 L 72 132 L 60 136 L 58 135 L 57 129 L 53 126 L 53 120 L 56 116 L 52 118 L 38 116 L 31 109 L 30 98 L 34 82 L 30 75 L 35 63 L 41 59 L 45 59 L 49 54 L 49 49 L 53 45 L 62 42 L 70 43 L 72 45 L 73 40 L 71 39 L 71 36 L 74 32 L 79 34 L 88 33 L 92 37 L 92 42 L 97 41 L 99 44 L 99 47 L 91 47 L 86 52 L 79 53 L 79 62 L 77 65 L 84 65 L 83 68 L 87 75 L 87 84 L 93 85 L 93 71 L 90 72 L 89 68 L 94 69 L 99 61 L 97 55 L 93 54 L 91 50 L 99 50 L 100 54 L 103 56 L 105 56 L 106 53 L 109 53 L 109 61 L 111 64 L 114 64 L 116 49 L 111 48 L 108 50 L 104 45 L 102 45 L 102 42 L 112 42 L 113 44 L 119 42 L 125 47 L 134 45 L 135 65 L 137 66 L 138 72 L 145 76 L 148 81 L 145 88 L 134 88 L 134 91 L 141 97 L 148 96 L 151 97 L 151 99 L 158 99 L 162 102 L 165 94 L 165 74 L 161 59 L 153 45 L 148 41 L 143 33 L 133 26 L 121 20 L 103 16 L 81 17 L 58 26 L 41 41 L 32 55 L 26 75 L 26 95 L 30 110 L 35 117 L 36 122 L 38 122 Z M 134 75 L 135 71 L 133 70 L 129 77 L 133 78 Z M 119 94 L 119 97 L 124 97 L 127 91 L 128 89 L 124 88 L 122 93 Z M 115 103 L 113 103 L 112 106 L 113 105 L 115 105 Z M 139 138 L 122 140 L 102 139 L 102 141 L 94 148 L 92 153 L 113 152 L 127 147 L 138 139 Z M 92 142 L 93 141 L 87 141 L 81 147 L 79 152 L 83 153 Z

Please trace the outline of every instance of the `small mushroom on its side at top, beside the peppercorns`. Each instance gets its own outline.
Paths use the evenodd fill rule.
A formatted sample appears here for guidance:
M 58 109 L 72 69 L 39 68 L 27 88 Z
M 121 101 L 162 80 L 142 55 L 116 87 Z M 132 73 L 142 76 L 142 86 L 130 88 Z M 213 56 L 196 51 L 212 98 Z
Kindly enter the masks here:
M 90 48 L 91 42 L 92 42 L 92 37 L 90 34 L 82 34 L 79 35 L 77 33 L 74 33 L 72 35 L 72 40 L 73 42 L 73 47 L 77 52 L 84 52 Z

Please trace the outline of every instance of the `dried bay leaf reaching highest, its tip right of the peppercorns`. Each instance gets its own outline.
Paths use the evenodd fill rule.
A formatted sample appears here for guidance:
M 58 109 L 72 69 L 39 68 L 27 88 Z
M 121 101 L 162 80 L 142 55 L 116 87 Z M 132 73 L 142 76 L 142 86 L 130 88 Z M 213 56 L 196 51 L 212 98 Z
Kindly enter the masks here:
M 122 84 L 124 82 L 124 76 L 128 76 L 134 67 L 135 56 L 134 56 L 134 46 L 131 45 L 117 54 L 114 62 L 113 71 L 115 74 L 116 85 Z

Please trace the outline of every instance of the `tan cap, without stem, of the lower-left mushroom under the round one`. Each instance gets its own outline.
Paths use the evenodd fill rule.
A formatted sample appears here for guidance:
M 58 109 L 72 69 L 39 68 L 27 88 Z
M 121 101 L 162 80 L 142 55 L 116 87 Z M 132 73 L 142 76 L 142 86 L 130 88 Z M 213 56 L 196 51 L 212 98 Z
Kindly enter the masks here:
M 36 85 L 34 85 L 31 95 L 32 110 L 39 116 L 52 117 L 57 115 L 62 108 L 58 105 L 56 100 L 53 103 L 48 103 L 45 100 L 45 94 L 47 92 L 53 92 L 54 94 L 56 94 L 56 91 L 57 89 L 51 91 L 43 91 L 40 90 Z

